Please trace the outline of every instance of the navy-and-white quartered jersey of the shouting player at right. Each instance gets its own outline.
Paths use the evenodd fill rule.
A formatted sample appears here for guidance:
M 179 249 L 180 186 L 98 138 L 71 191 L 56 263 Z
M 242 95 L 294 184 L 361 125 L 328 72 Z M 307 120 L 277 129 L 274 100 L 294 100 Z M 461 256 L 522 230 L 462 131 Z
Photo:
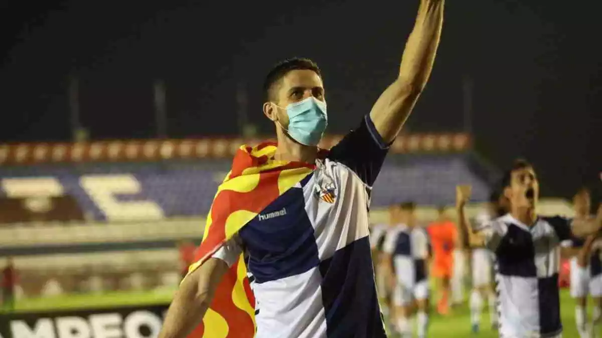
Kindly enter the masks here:
M 477 230 L 495 253 L 500 337 L 560 337 L 560 242 L 571 221 L 539 217 L 529 227 L 508 214 Z

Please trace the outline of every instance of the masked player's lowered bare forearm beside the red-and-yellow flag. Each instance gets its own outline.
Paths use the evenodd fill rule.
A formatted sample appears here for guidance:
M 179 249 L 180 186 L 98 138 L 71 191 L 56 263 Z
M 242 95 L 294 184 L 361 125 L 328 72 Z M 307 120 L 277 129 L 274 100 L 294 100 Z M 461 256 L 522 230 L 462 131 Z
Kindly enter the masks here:
M 217 289 L 228 271 L 221 259 L 210 258 L 180 284 L 167 310 L 163 329 L 158 338 L 185 338 L 200 324 Z

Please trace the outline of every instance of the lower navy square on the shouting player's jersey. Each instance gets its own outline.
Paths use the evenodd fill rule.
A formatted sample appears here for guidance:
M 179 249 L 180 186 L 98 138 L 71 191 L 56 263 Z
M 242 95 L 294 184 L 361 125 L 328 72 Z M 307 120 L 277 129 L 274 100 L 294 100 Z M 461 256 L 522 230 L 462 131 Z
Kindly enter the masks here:
M 558 292 L 558 274 L 550 277 L 538 278 L 537 289 L 539 294 L 539 325 L 541 333 L 553 334 L 562 331 L 562 322 L 560 321 L 560 294 Z

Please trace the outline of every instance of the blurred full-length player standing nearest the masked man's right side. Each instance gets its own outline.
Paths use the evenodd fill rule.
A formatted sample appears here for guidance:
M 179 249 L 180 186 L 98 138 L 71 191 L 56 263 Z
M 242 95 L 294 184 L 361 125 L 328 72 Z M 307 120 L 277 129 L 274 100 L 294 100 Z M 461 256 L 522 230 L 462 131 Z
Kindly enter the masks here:
M 400 224 L 386 236 L 383 250 L 386 264 L 392 266 L 395 281 L 393 304 L 396 327 L 402 338 L 412 337 L 410 322 L 414 307 L 417 309 L 418 337 L 426 337 L 429 323 L 429 280 L 427 259 L 429 239 L 427 233 L 417 226 L 415 204 L 403 203 L 400 206 Z M 389 272 L 389 275 L 393 275 Z M 391 278 L 391 277 L 389 277 Z

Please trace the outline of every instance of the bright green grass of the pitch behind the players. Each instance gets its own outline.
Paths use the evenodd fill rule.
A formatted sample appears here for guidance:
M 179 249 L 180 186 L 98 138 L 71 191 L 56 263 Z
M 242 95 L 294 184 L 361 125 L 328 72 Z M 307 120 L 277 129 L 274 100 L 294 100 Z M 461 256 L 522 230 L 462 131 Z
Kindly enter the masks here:
M 51 298 L 32 298 L 17 303 L 17 312 L 52 311 L 69 309 L 95 309 L 103 307 L 151 305 L 169 303 L 173 289 L 153 292 L 111 292 L 102 295 L 69 295 Z M 562 321 L 564 337 L 578 337 L 574 321 L 574 301 L 568 291 L 561 292 Z M 591 313 L 591 311 L 590 311 Z M 470 312 L 467 304 L 453 309 L 448 316 L 440 316 L 433 311 L 430 318 L 430 337 L 479 337 L 497 338 L 497 333 L 489 327 L 488 310 L 483 309 L 481 332 L 471 333 Z

